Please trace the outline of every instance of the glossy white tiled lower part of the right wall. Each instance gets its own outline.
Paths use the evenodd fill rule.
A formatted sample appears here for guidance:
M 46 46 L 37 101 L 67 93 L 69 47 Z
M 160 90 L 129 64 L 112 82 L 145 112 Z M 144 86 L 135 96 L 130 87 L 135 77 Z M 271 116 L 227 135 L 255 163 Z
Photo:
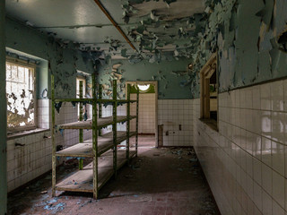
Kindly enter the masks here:
M 219 95 L 219 133 L 197 120 L 195 148 L 222 215 L 287 211 L 287 81 Z

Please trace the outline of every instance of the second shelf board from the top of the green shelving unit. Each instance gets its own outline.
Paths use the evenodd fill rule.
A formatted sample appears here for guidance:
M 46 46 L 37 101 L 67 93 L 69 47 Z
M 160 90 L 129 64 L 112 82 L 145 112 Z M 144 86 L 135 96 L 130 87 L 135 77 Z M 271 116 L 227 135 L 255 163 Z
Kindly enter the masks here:
M 130 116 L 130 119 L 135 118 L 136 116 Z M 125 122 L 127 120 L 126 116 L 117 116 L 117 123 Z M 113 117 L 101 117 L 98 119 L 98 129 L 102 127 L 106 127 L 108 125 L 113 124 Z M 74 122 L 64 125 L 57 125 L 59 129 L 91 129 L 92 123 L 91 120 L 82 121 L 82 122 Z

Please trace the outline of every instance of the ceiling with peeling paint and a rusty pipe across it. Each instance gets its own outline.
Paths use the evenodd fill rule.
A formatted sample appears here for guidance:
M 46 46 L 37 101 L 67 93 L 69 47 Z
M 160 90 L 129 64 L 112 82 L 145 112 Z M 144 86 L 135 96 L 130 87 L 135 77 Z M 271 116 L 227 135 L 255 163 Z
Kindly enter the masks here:
M 104 51 L 117 58 L 150 58 L 164 52 L 177 56 L 181 49 L 193 46 L 192 37 L 204 30 L 204 2 L 101 1 L 137 53 L 93 0 L 6 0 L 6 14 L 63 43 L 77 43 L 82 50 Z

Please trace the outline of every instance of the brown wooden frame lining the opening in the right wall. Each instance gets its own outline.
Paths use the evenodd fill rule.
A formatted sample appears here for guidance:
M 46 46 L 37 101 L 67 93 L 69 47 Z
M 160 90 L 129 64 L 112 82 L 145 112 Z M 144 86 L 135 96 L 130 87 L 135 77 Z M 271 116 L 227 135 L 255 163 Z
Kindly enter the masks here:
M 200 71 L 200 119 L 208 125 L 214 125 L 215 119 L 210 116 L 210 78 L 216 73 L 218 92 L 218 68 L 217 53 L 213 53 Z M 215 130 L 218 128 L 218 97 L 217 97 L 217 120 Z

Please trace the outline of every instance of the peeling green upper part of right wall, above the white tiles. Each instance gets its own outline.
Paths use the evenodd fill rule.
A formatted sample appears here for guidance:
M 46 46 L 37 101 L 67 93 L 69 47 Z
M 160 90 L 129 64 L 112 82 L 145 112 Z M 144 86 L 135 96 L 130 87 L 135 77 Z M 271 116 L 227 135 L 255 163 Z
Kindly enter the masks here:
M 210 56 L 205 44 L 217 41 L 220 92 L 286 76 L 286 50 L 277 41 L 287 27 L 286 1 L 210 2 L 213 6 L 205 10 L 209 20 L 196 55 L 206 56 L 205 62 Z M 203 65 L 197 63 L 196 71 Z M 198 85 L 197 77 L 192 82 L 195 97 L 199 97 Z

